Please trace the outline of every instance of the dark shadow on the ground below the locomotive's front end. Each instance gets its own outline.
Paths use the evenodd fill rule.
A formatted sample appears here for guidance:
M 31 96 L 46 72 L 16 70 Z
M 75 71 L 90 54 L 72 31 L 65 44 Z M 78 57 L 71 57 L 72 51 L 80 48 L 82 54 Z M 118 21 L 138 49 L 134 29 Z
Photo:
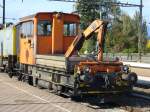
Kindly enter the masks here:
M 136 110 L 137 108 L 149 108 L 150 109 L 150 101 L 131 96 L 131 95 L 124 95 L 119 96 L 118 98 L 108 98 L 106 102 L 104 99 L 99 97 L 85 97 L 80 100 L 81 104 L 90 107 L 92 109 L 113 109 L 113 108 L 122 108 L 129 112 L 142 112 L 140 110 Z

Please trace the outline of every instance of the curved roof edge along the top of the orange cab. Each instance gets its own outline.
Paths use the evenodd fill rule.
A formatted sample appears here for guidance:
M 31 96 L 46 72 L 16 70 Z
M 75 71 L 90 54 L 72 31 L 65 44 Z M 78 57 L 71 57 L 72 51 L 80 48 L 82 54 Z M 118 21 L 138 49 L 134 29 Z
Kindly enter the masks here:
M 32 15 L 29 15 L 29 16 L 25 16 L 25 17 L 22 17 L 20 18 L 20 21 L 23 22 L 23 21 L 30 21 L 30 20 L 33 20 L 35 16 L 39 15 L 39 14 L 56 14 L 56 13 L 61 13 L 61 14 L 64 14 L 64 15 L 72 15 L 72 16 L 77 16 L 79 17 L 79 15 L 75 14 L 75 13 L 63 13 L 63 12 L 38 12 L 36 14 L 32 14 Z

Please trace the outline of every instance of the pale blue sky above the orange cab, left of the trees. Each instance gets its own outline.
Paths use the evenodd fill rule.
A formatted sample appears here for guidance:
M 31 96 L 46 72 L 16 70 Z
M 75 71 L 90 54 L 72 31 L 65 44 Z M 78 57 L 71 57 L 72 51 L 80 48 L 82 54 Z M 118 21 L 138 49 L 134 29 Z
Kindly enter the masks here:
M 0 0 L 2 4 L 3 0 Z M 49 2 L 48 0 L 6 0 L 6 18 L 16 18 L 34 14 L 36 12 L 72 12 L 73 4 L 64 2 Z M 2 9 L 0 9 L 0 17 L 2 16 Z M 12 21 L 10 19 L 6 21 Z M 2 22 L 2 19 L 0 19 Z

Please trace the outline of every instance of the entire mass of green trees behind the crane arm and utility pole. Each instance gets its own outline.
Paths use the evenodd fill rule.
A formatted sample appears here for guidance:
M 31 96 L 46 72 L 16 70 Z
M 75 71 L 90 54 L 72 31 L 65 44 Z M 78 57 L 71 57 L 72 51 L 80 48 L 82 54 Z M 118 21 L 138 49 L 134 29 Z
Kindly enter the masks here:
M 105 37 L 105 52 L 138 52 L 140 31 L 139 12 L 136 12 L 133 17 L 130 17 L 128 14 L 122 12 L 120 7 L 110 3 L 117 2 L 117 0 L 107 0 L 107 2 L 106 0 L 78 1 L 76 9 L 81 17 L 81 29 L 85 29 L 96 18 L 109 19 L 110 16 L 113 19 Z M 147 36 L 145 20 L 143 21 L 142 29 L 142 51 L 145 51 Z M 95 50 L 95 46 L 96 38 L 91 38 L 85 42 L 81 51 L 92 52 Z

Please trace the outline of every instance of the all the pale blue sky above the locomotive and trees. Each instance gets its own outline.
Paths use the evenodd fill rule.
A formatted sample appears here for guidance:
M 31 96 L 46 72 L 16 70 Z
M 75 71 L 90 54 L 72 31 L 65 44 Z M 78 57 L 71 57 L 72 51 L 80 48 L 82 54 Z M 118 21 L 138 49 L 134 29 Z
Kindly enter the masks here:
M 0 0 L 2 4 L 3 0 Z M 120 0 L 128 3 L 140 3 L 140 0 Z M 143 17 L 147 23 L 150 23 L 150 0 L 143 0 Z M 133 16 L 138 8 L 123 8 L 125 12 Z M 72 12 L 74 11 L 73 3 L 64 2 L 50 2 L 48 0 L 6 0 L 6 17 L 7 18 L 21 18 L 26 15 L 34 14 L 36 12 L 48 12 L 48 11 L 59 11 L 59 12 Z M 0 17 L 2 17 L 2 9 L 0 9 Z M 12 20 L 6 20 L 12 21 Z M 0 19 L 0 22 L 2 20 Z M 150 24 L 148 24 L 150 26 Z

